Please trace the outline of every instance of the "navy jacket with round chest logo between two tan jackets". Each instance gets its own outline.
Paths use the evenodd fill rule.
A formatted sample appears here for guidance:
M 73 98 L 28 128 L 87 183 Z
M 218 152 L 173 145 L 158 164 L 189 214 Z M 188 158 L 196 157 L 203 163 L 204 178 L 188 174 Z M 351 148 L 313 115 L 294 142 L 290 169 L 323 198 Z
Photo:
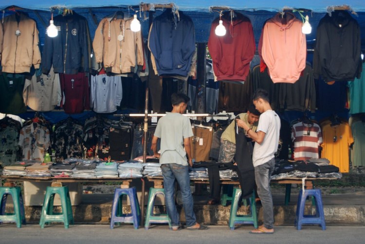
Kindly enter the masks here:
M 55 73 L 89 72 L 91 41 L 86 18 L 73 12 L 72 15 L 57 15 L 53 20 L 58 35 L 45 37 L 42 72 L 48 74 L 52 65 Z

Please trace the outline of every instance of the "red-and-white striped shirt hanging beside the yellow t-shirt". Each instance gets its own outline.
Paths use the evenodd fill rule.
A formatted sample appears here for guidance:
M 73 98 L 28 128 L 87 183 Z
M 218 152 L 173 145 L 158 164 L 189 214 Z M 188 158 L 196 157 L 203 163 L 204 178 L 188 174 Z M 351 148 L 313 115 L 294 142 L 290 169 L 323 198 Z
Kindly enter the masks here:
M 322 131 L 318 124 L 296 123 L 292 126 L 294 159 L 318 158 L 318 147 L 322 144 Z

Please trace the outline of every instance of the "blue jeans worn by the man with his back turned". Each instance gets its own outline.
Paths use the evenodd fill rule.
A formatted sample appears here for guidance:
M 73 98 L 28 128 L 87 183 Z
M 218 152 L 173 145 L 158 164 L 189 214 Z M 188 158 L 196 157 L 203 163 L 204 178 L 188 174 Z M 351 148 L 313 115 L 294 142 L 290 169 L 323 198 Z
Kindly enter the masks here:
M 176 163 L 163 164 L 161 166 L 162 175 L 164 176 L 164 191 L 165 191 L 165 204 L 167 214 L 171 219 L 171 226 L 180 225 L 179 213 L 175 204 L 175 179 L 179 183 L 182 198 L 183 207 L 185 211 L 186 226 L 194 226 L 196 223 L 196 217 L 194 213 L 193 196 L 190 190 L 190 178 L 188 172 L 188 166 L 183 166 Z

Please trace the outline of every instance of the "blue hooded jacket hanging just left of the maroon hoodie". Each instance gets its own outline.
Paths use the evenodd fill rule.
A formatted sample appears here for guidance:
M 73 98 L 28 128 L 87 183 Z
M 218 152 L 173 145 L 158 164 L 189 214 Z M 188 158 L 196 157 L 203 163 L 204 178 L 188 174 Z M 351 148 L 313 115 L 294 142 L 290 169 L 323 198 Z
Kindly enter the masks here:
M 167 9 L 156 17 L 148 35 L 148 48 L 159 75 L 187 76 L 195 52 L 195 29 L 190 17 Z

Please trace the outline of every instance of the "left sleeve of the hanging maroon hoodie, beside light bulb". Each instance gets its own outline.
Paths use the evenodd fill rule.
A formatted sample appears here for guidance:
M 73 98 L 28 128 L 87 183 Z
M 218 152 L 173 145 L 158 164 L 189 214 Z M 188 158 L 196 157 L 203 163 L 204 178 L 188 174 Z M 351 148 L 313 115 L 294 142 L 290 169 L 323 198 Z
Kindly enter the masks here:
M 222 47 L 220 45 L 220 39 L 223 38 L 216 35 L 215 33 L 218 24 L 219 24 L 219 18 L 216 18 L 213 21 L 212 26 L 210 28 L 210 34 L 208 39 L 208 50 L 213 60 L 213 70 L 216 76 L 220 75 L 219 63 L 222 60 Z

